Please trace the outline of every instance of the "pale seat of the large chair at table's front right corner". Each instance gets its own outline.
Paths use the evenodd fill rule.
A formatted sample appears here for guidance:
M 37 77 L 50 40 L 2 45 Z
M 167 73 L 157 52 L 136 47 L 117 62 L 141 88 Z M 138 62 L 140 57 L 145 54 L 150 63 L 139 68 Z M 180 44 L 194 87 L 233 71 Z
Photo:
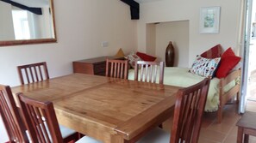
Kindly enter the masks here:
M 153 128 L 136 143 L 169 143 L 171 134 L 161 128 Z

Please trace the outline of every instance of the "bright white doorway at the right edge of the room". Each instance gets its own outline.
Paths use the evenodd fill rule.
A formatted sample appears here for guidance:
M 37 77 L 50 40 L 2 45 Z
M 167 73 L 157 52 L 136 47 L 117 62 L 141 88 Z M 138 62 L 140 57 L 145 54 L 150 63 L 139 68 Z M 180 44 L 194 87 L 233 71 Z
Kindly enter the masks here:
M 242 36 L 243 68 L 240 113 L 245 112 L 247 101 L 253 101 L 253 104 L 256 104 L 256 0 L 245 0 L 244 9 L 246 17 Z

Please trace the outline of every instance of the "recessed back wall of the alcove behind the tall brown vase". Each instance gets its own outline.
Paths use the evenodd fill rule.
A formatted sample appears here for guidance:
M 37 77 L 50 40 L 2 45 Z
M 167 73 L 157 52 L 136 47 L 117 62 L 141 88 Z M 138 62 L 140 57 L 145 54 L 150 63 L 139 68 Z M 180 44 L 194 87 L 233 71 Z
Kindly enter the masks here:
M 189 66 L 189 21 L 162 22 L 156 25 L 156 55 L 165 61 L 169 42 L 174 47 L 174 66 Z

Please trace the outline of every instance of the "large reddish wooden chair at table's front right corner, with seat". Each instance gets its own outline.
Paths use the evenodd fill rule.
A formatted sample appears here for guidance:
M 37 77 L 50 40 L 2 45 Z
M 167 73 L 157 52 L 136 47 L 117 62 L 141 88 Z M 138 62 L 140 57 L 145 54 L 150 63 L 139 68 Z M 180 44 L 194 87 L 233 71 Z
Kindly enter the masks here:
M 162 128 L 154 128 L 137 143 L 197 143 L 208 90 L 209 79 L 178 90 L 172 134 Z

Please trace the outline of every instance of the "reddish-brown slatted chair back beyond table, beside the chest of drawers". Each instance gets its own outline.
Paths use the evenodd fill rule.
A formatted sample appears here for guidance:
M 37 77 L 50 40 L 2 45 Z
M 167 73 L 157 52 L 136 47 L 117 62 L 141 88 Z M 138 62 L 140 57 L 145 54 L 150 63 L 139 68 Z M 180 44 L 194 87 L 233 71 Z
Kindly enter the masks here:
M 106 60 L 106 76 L 128 79 L 128 60 Z

